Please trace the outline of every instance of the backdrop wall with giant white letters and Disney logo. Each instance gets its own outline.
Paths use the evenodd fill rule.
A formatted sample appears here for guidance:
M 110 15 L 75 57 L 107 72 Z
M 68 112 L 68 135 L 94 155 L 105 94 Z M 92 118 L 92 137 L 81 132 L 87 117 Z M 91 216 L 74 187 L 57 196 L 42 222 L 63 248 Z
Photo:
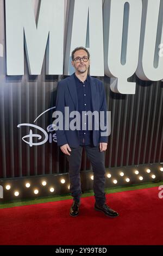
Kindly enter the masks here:
M 162 0 L 0 0 L 0 178 L 68 172 L 52 114 L 77 46 L 111 111 L 105 167 L 163 162 L 162 16 Z

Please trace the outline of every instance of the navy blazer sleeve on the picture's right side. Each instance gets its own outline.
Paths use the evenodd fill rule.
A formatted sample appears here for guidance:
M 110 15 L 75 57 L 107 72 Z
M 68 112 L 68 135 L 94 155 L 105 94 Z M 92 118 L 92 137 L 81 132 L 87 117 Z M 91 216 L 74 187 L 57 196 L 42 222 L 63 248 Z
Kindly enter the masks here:
M 101 125 L 103 124 L 103 126 L 106 127 L 106 111 L 107 111 L 107 105 L 106 105 L 106 94 L 105 94 L 105 89 L 104 89 L 104 84 L 101 84 L 101 107 L 100 107 L 100 111 L 104 111 L 104 120 L 102 120 L 100 118 L 99 115 L 99 132 L 100 132 L 100 136 L 99 136 L 99 143 L 100 142 L 105 142 L 108 143 L 108 136 L 102 136 L 102 132 L 105 132 L 105 130 L 101 130 Z

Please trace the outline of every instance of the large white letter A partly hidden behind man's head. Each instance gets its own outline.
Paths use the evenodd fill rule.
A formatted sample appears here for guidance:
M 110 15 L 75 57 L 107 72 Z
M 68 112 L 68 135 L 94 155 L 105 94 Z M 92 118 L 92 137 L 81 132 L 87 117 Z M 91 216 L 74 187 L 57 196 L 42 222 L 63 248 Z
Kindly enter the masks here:
M 64 75 L 71 75 L 71 52 L 78 46 L 90 51 L 90 75 L 104 76 L 102 0 L 71 0 L 68 15 Z

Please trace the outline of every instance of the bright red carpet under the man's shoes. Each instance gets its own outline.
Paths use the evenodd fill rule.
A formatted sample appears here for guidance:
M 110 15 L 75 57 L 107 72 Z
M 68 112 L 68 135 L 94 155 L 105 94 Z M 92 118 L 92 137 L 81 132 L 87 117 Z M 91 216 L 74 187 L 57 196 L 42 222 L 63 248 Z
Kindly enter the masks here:
M 80 215 L 70 217 L 72 200 L 0 209 L 1 245 L 162 245 L 163 199 L 158 187 L 107 195 L 117 218 L 82 198 Z

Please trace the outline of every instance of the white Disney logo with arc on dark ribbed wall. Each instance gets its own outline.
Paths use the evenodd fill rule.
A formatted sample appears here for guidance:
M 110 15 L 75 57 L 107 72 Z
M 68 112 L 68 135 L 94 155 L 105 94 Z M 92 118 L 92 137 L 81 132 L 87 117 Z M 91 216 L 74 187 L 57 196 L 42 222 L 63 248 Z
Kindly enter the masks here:
M 41 115 L 45 114 L 46 112 L 50 111 L 50 110 L 53 109 L 53 108 L 55 108 L 55 107 L 49 108 L 49 109 L 47 109 L 46 111 L 42 112 L 42 113 L 34 120 L 34 123 L 35 123 L 35 121 L 36 121 L 38 118 L 41 117 Z M 29 144 L 30 147 L 42 145 L 42 144 L 46 143 L 46 142 L 48 141 L 48 139 L 49 139 L 49 143 L 52 143 L 53 141 L 54 141 L 54 142 L 57 142 L 56 133 L 52 134 L 52 132 L 55 131 L 55 129 L 54 129 L 54 128 L 55 128 L 55 125 L 54 125 L 54 124 L 48 125 L 48 126 L 47 126 L 47 131 L 44 130 L 42 127 L 40 127 L 40 126 L 38 126 L 38 125 L 35 125 L 35 124 L 23 123 L 23 124 L 18 124 L 18 125 L 17 125 L 17 127 L 21 127 L 21 126 L 30 126 L 30 127 L 33 127 L 33 128 L 35 128 L 35 129 L 39 130 L 39 131 L 42 133 L 42 135 L 36 134 L 36 133 L 33 133 L 32 129 L 30 129 L 30 130 L 29 130 L 29 134 L 22 137 L 22 140 L 23 140 L 25 143 Z M 49 135 L 48 135 L 48 132 L 50 132 Z M 27 141 L 26 138 L 29 138 L 29 141 Z M 40 141 L 40 142 L 33 142 L 33 139 L 34 139 L 34 138 L 37 138 L 37 139 L 39 139 L 39 140 L 40 140 L 40 139 L 43 139 L 43 141 Z

